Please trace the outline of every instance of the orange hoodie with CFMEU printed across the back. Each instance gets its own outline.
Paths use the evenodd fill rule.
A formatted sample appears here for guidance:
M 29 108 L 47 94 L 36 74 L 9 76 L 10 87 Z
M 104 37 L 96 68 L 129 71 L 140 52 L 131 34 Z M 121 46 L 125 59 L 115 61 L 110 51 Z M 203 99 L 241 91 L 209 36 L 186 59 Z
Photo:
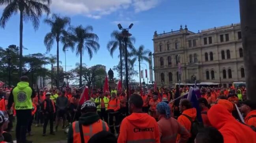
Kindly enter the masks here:
M 118 143 L 160 143 L 157 122 L 147 113 L 133 113 L 123 119 Z

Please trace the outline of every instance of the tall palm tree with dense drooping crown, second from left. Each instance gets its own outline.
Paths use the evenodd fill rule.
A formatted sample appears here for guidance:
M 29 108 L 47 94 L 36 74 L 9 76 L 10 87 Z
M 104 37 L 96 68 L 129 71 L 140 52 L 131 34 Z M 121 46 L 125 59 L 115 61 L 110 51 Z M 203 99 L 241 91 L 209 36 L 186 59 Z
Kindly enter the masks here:
M 56 40 L 57 43 L 57 87 L 59 87 L 59 42 L 62 42 L 64 47 L 63 49 L 66 49 L 67 47 L 72 47 L 73 45 L 70 43 L 68 44 L 70 40 L 67 40 L 69 38 L 69 33 L 66 31 L 66 27 L 70 25 L 70 18 L 69 17 L 60 17 L 56 14 L 52 15 L 52 18 L 46 18 L 44 22 L 51 27 L 51 31 L 45 35 L 45 46 L 47 49 L 47 52 L 49 52 L 52 49 L 52 45 L 54 44 L 54 40 Z

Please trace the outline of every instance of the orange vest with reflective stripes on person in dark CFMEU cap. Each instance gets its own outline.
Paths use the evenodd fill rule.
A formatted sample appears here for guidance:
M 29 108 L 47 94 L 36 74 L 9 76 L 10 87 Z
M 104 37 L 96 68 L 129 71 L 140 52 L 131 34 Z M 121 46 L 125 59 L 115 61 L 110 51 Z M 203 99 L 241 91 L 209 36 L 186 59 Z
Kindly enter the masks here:
M 82 134 L 84 135 L 84 143 L 88 143 L 89 139 L 92 138 L 94 134 L 101 132 L 103 130 L 108 131 L 108 125 L 105 121 L 99 119 L 95 123 L 91 125 L 81 125 Z M 79 121 L 75 121 L 72 123 L 73 128 L 73 143 L 81 143 L 80 129 L 79 129 Z

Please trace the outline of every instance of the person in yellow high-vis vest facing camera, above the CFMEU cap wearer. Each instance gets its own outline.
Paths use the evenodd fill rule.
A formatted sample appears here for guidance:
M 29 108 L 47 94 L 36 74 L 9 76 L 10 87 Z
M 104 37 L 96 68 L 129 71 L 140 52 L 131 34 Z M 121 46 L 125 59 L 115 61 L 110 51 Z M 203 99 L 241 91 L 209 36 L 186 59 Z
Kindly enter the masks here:
M 108 122 L 108 107 L 109 99 L 103 95 L 103 92 L 99 92 L 99 97 L 95 99 L 95 104 L 97 105 L 97 113 L 101 119 L 104 119 L 105 122 Z

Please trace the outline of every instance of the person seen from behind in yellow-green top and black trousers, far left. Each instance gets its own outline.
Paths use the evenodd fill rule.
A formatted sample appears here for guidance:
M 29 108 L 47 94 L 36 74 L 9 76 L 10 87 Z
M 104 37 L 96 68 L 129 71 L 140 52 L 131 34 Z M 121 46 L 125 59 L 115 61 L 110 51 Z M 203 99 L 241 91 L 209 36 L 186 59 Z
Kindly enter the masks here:
M 26 140 L 26 132 L 28 129 L 28 122 L 32 114 L 32 99 L 36 96 L 34 90 L 29 87 L 29 79 L 27 76 L 21 77 L 21 82 L 17 83 L 9 96 L 7 109 L 10 109 L 15 104 L 17 125 L 16 125 L 16 139 L 17 143 L 32 143 Z

